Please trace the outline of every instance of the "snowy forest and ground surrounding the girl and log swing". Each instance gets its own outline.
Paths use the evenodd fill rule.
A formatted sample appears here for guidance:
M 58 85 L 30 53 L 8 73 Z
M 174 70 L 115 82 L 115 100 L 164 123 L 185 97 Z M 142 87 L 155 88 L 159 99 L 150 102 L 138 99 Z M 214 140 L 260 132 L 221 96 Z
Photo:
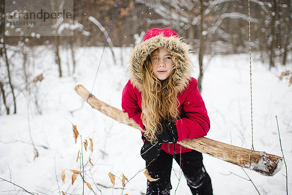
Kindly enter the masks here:
M 192 46 L 208 138 L 284 156 L 262 176 L 203 154 L 214 195 L 292 193 L 292 0 L 26 1 L 72 6 L 71 20 L 41 27 L 48 35 L 11 25 L 11 2 L 0 0 L 1 195 L 146 194 L 141 133 L 74 87 L 121 110 L 129 53 L 150 28 Z M 177 164 L 171 182 L 171 195 L 191 194 Z

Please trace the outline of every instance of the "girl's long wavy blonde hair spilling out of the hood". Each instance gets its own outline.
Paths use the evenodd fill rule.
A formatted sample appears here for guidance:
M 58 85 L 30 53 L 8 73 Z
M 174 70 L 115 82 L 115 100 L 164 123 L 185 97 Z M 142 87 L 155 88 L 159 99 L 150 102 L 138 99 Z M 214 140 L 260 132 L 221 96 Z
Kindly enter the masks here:
M 175 87 L 173 74 L 176 71 L 174 63 L 172 72 L 165 80 L 159 80 L 152 70 L 152 56 L 159 52 L 154 50 L 143 64 L 143 89 L 141 118 L 146 127 L 145 137 L 152 143 L 157 141 L 157 135 L 161 134 L 161 121 L 174 121 L 179 117 L 178 89 Z

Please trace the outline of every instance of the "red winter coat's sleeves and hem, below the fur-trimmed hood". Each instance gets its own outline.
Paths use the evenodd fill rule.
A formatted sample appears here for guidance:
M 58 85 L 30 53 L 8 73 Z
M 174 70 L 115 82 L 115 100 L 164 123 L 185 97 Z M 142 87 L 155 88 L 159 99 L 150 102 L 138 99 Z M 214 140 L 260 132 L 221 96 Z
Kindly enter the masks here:
M 191 78 L 188 86 L 178 95 L 180 103 L 179 109 L 181 110 L 181 119 L 175 121 L 178 132 L 178 141 L 206 136 L 210 129 L 210 120 L 197 86 L 198 81 L 195 78 Z M 130 80 L 123 90 L 122 108 L 123 112 L 128 113 L 129 118 L 133 118 L 142 129 L 145 129 L 141 119 L 141 93 L 131 84 Z M 173 149 L 173 143 L 162 144 L 162 150 L 166 153 L 173 154 Z M 191 149 L 185 148 L 179 144 L 175 145 L 175 153 L 177 154 L 188 152 L 190 150 Z

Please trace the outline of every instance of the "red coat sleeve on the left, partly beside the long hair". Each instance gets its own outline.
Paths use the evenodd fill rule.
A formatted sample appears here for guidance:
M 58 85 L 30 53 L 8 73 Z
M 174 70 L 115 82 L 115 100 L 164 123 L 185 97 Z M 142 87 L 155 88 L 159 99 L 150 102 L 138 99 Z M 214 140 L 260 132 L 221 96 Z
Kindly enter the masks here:
M 138 94 L 135 91 L 138 92 L 137 89 L 134 89 L 130 81 L 128 81 L 122 93 L 122 109 L 124 113 L 128 113 L 129 118 L 133 118 L 142 129 L 145 129 L 141 119 L 142 110 L 138 104 Z

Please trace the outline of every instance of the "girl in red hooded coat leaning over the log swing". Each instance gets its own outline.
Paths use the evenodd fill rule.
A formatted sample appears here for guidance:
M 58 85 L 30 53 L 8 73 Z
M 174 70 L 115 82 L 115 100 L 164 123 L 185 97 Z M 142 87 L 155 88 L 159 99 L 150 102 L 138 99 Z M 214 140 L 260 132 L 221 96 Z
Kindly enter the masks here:
M 144 129 L 141 156 L 149 175 L 159 178 L 147 180 L 147 195 L 169 195 L 173 158 L 193 195 L 212 195 L 202 154 L 176 144 L 206 136 L 210 128 L 198 81 L 191 77 L 189 49 L 175 31 L 152 28 L 130 54 L 122 108 Z

